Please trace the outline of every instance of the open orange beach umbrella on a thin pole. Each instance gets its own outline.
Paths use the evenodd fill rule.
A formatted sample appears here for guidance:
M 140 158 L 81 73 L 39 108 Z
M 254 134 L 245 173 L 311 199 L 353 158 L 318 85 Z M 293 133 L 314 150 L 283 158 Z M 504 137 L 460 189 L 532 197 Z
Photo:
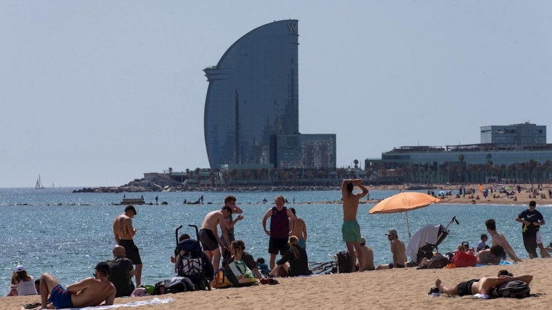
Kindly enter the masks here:
M 393 195 L 377 203 L 369 214 L 406 212 L 406 228 L 408 228 L 408 240 L 410 240 L 410 225 L 408 225 L 408 211 L 427 207 L 432 203 L 438 203 L 439 199 L 431 195 L 419 192 L 404 192 Z

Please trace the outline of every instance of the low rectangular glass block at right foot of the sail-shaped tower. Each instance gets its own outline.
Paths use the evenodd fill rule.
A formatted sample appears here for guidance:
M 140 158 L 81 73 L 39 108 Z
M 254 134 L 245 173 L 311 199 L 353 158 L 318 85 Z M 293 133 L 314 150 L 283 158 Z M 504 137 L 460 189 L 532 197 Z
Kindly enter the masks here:
M 280 169 L 335 168 L 335 134 L 270 136 L 270 163 Z

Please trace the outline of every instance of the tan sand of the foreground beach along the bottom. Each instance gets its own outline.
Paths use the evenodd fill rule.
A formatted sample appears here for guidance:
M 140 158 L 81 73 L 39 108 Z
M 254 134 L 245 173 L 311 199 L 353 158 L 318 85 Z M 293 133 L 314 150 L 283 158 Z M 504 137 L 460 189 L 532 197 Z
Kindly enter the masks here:
M 548 309 L 552 293 L 552 260 L 525 260 L 509 266 L 468 267 L 457 269 L 415 268 L 341 273 L 302 278 L 281 278 L 279 285 L 259 285 L 239 289 L 213 289 L 164 296 L 116 298 L 115 304 L 154 297 L 170 297 L 170 304 L 125 309 Z M 446 285 L 495 276 L 500 269 L 514 275 L 533 274 L 530 298 L 475 299 L 471 296 L 428 297 L 440 278 Z M 2 297 L 0 309 L 20 309 L 21 305 L 39 302 L 39 296 Z

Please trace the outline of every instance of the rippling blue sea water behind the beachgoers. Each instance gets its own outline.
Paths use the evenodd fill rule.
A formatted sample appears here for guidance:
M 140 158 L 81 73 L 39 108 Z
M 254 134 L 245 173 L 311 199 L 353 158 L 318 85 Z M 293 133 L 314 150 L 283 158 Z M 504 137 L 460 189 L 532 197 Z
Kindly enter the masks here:
M 62 285 L 70 285 L 92 275 L 97 262 L 110 258 L 115 245 L 112 232 L 113 220 L 124 211 L 119 203 L 122 194 L 72 194 L 73 188 L 48 189 L 0 189 L 0 287 L 8 293 L 13 269 L 22 264 L 34 278 L 42 273 L 52 273 Z M 262 230 L 262 217 L 272 207 L 278 194 L 295 207 L 297 216 L 307 225 L 307 253 L 309 261 L 326 262 L 344 249 L 342 242 L 342 206 L 316 204 L 326 200 L 338 200 L 340 191 L 329 192 L 168 192 L 127 193 L 126 198 L 139 198 L 144 194 L 146 202 L 168 205 L 136 206 L 137 227 L 135 243 L 139 247 L 144 269 L 142 282 L 154 284 L 173 276 L 170 255 L 176 246 L 175 229 L 184 227 L 179 234 L 195 236 L 188 224 L 201 225 L 204 216 L 220 209 L 227 194 L 237 197 L 238 206 L 244 210 L 244 220 L 237 223 L 237 239 L 244 240 L 246 251 L 255 258 L 268 260 L 268 236 Z M 386 198 L 397 191 L 371 191 L 371 198 Z M 184 205 L 184 199 L 197 200 L 204 195 L 204 205 Z M 261 203 L 266 198 L 270 204 Z M 295 205 L 292 203 L 295 198 Z M 212 202 L 213 204 L 208 204 Z M 26 204 L 26 205 L 23 205 Z M 374 252 L 375 264 L 392 261 L 389 243 L 384 235 L 390 228 L 397 229 L 399 237 L 408 242 L 405 214 L 368 214 L 375 204 L 359 206 L 358 222 L 366 245 Z M 552 220 L 552 208 L 537 206 L 545 220 Z M 440 245 L 440 251 L 451 251 L 462 241 L 475 246 L 480 234 L 486 233 L 484 222 L 497 221 L 497 229 L 506 236 L 520 258 L 528 258 L 522 244 L 521 224 L 514 218 L 525 206 L 516 205 L 431 205 L 408 212 L 411 234 L 427 224 L 446 225 L 457 216 L 460 225 L 453 224 L 450 234 Z M 267 225 L 268 226 L 268 225 Z M 541 234 L 545 245 L 552 240 L 551 225 L 544 225 Z

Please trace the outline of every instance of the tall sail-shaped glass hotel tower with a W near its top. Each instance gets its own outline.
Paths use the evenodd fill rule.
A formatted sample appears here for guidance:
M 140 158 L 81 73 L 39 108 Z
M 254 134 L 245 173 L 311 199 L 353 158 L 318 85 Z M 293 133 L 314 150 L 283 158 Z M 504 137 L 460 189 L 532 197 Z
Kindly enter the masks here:
M 262 25 L 233 43 L 217 65 L 204 69 L 211 168 L 268 164 L 270 136 L 299 132 L 297 26 L 293 19 Z

